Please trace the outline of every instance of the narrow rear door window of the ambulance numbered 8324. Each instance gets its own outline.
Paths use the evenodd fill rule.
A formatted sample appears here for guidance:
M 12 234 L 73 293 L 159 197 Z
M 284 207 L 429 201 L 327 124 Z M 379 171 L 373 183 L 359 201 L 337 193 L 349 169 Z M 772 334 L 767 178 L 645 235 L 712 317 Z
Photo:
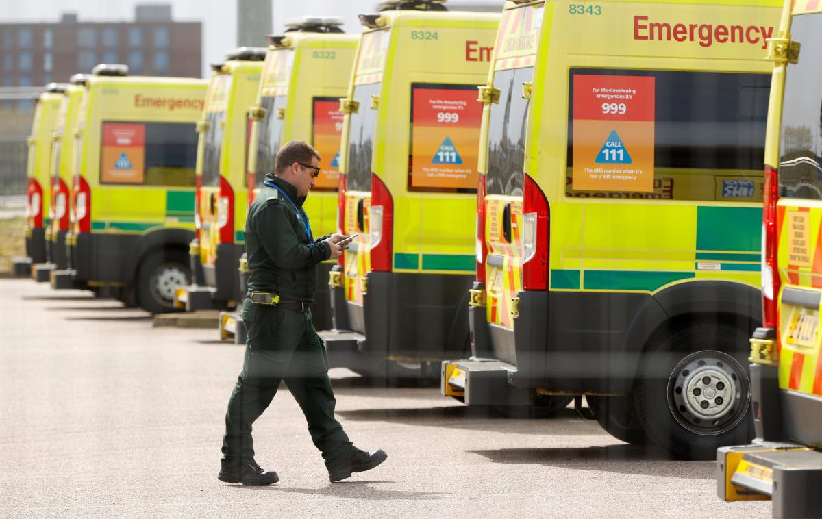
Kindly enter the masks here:
M 349 156 L 346 189 L 371 191 L 371 158 L 374 147 L 376 110 L 371 108 L 372 95 L 380 94 L 380 84 L 357 85 L 354 100 L 359 102 L 357 113 L 349 117 Z

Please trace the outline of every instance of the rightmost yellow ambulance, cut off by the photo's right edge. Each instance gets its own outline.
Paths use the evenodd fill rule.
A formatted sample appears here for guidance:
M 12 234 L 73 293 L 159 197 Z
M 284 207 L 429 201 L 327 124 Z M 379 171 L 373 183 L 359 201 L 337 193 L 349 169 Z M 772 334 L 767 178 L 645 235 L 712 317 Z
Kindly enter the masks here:
M 773 517 L 822 517 L 822 2 L 785 0 L 769 41 L 762 327 L 750 339 L 756 439 L 719 448 L 727 501 L 772 499 Z

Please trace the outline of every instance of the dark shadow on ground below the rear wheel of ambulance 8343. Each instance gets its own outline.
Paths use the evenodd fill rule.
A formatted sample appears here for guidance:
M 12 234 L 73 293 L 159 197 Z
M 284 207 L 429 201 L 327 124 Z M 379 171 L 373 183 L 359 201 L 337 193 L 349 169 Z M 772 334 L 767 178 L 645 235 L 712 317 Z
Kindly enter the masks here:
M 684 462 L 663 450 L 625 443 L 584 448 L 501 448 L 467 451 L 493 463 L 543 465 L 580 471 L 628 475 L 674 476 L 686 480 L 713 480 L 714 462 Z M 675 464 L 679 469 L 672 470 Z M 682 469 L 685 470 L 682 470 Z

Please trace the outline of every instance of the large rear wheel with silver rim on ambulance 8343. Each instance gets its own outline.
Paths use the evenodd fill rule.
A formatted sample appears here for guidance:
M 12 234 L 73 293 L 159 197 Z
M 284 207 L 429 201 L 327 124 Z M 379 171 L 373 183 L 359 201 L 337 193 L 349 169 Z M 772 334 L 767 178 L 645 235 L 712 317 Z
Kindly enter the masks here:
M 693 460 L 750 443 L 748 332 L 718 322 L 687 324 L 645 352 L 635 407 L 653 443 Z

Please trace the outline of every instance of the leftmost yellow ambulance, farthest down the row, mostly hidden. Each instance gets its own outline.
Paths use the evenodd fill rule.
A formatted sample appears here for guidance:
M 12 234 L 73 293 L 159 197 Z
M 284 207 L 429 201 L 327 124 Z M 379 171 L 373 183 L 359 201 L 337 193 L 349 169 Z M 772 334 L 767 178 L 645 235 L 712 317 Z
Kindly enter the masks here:
M 50 210 L 49 165 L 51 136 L 60 113 L 60 102 L 65 85 L 51 83 L 40 94 L 35 106 L 35 116 L 29 135 L 29 158 L 26 163 L 26 218 L 25 258 L 14 259 L 14 273 L 18 276 L 35 275 L 35 264 L 46 260 L 46 229 Z

